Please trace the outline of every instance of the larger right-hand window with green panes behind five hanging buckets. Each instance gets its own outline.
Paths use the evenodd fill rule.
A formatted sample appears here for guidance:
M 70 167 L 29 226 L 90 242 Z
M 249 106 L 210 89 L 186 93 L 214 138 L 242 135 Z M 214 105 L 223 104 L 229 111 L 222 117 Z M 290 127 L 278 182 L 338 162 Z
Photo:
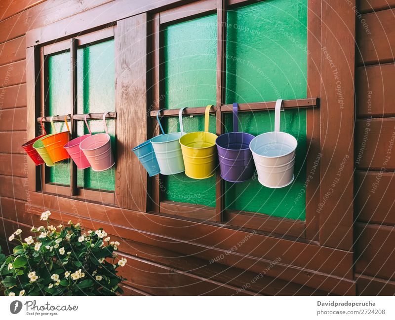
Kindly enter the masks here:
M 310 125 L 306 108 L 317 106 L 317 100 L 308 99 L 307 93 L 307 5 L 307 0 L 236 4 L 228 8 L 225 28 L 218 36 L 221 17 L 210 14 L 208 4 L 204 16 L 194 11 L 193 4 L 184 11 L 160 13 L 161 51 L 157 59 L 161 78 L 156 90 L 163 97 L 158 107 L 170 109 L 161 119 L 166 133 L 180 130 L 175 115 L 181 107 L 192 108 L 186 109 L 190 117 L 183 118 L 184 131 L 201 131 L 201 114 L 208 104 L 216 106 L 216 113 L 210 115 L 210 132 L 232 131 L 230 105 L 237 102 L 243 105 L 239 130 L 256 136 L 273 130 L 274 101 L 281 98 L 288 105 L 281 112 L 281 130 L 298 141 L 295 181 L 291 185 L 269 189 L 256 177 L 242 183 L 224 183 L 218 176 L 194 180 L 183 173 L 160 175 L 159 197 L 154 199 L 160 203 L 160 212 L 266 231 L 283 224 L 284 228 L 279 229 L 285 231 L 277 228 L 275 232 L 304 236 Z M 217 38 L 226 42 L 223 62 L 218 59 Z M 218 79 L 221 68 L 226 71 L 222 72 L 222 77 L 226 75 L 223 93 Z M 153 122 L 155 125 L 156 119 Z M 295 231 L 288 232 L 287 228 Z

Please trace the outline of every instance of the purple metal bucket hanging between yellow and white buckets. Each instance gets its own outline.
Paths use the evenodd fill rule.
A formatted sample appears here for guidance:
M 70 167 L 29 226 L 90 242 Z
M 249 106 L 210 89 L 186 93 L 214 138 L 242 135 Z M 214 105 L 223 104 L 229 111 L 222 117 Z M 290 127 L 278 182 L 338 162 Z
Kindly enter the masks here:
M 233 130 L 215 141 L 218 150 L 221 177 L 230 182 L 243 182 L 254 174 L 255 166 L 250 142 L 255 137 L 238 132 L 237 103 L 233 104 Z

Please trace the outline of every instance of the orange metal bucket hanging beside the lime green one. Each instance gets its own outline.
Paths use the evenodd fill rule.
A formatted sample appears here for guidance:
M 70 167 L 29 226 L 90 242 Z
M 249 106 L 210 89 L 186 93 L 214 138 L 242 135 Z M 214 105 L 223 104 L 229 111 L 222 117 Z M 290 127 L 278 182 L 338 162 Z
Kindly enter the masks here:
M 51 126 L 55 131 L 55 134 L 49 135 L 44 139 L 42 139 L 42 143 L 45 145 L 45 149 L 54 163 L 70 158 L 69 153 L 64 148 L 64 145 L 70 140 L 70 128 L 69 128 L 69 124 L 67 123 L 67 117 L 69 115 L 70 114 L 65 116 L 65 123 L 68 131 L 56 133 L 56 129 L 53 124 L 53 117 L 55 115 L 53 115 L 51 116 Z

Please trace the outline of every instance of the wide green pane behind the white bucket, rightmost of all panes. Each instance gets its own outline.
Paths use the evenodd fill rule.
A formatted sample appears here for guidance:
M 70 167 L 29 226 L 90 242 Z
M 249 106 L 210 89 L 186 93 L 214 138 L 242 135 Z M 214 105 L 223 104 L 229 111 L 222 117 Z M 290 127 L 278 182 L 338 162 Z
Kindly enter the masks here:
M 267 0 L 228 13 L 226 102 L 306 98 L 307 0 Z M 274 112 L 240 113 L 239 130 L 254 136 L 274 130 Z M 232 131 L 232 115 L 225 116 Z M 281 112 L 281 130 L 298 140 L 295 181 L 270 189 L 255 176 L 226 183 L 226 206 L 304 220 L 306 217 L 306 111 Z M 300 195 L 302 194 L 302 197 Z

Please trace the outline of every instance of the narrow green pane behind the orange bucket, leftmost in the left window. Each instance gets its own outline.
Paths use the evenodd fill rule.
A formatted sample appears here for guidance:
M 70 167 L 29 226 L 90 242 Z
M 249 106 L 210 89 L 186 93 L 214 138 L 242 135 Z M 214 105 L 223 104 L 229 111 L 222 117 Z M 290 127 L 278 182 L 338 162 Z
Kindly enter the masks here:
M 49 56 L 47 61 L 49 115 L 70 113 L 70 52 Z M 55 128 L 57 132 L 67 130 L 64 122 L 55 122 Z M 48 131 L 54 133 L 52 127 Z M 70 185 L 70 161 L 49 167 L 49 181 Z

